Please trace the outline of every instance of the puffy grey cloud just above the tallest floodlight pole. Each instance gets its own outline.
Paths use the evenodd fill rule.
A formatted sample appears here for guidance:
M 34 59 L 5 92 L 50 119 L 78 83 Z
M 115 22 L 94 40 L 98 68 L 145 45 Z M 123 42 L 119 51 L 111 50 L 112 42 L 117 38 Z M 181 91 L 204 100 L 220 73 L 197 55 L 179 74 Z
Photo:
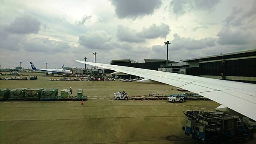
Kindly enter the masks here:
M 165 38 L 170 31 L 170 27 L 164 23 L 159 26 L 152 24 L 148 29 L 144 28 L 138 35 L 143 38 Z

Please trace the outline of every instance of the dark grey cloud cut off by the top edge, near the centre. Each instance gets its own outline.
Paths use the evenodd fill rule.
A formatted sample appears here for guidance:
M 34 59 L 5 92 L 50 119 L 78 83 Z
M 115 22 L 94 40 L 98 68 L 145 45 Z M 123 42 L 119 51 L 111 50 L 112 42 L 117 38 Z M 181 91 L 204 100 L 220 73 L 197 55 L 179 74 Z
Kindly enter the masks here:
M 119 18 L 137 18 L 153 14 L 162 4 L 161 0 L 111 0 L 111 2 Z

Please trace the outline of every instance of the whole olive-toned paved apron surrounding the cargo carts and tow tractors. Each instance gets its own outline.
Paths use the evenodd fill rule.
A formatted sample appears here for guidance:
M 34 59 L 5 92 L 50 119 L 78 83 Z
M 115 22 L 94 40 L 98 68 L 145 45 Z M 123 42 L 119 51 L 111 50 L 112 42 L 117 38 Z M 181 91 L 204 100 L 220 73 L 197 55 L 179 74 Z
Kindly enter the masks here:
M 172 89 L 166 84 L 136 82 L 0 81 L 0 88 L 79 88 L 88 100 L 0 101 L 1 144 L 195 144 L 181 129 L 189 109 L 214 109 L 214 101 L 116 101 L 113 92 L 148 95 Z M 183 93 L 173 90 L 163 94 Z M 255 140 L 244 142 L 255 144 Z

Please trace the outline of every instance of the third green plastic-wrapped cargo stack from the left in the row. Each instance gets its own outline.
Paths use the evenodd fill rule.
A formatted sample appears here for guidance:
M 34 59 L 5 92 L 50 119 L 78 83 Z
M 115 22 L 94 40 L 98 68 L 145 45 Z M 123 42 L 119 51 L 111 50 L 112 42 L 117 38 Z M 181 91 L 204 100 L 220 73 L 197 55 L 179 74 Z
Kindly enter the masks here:
M 26 89 L 24 100 L 39 100 L 44 89 Z

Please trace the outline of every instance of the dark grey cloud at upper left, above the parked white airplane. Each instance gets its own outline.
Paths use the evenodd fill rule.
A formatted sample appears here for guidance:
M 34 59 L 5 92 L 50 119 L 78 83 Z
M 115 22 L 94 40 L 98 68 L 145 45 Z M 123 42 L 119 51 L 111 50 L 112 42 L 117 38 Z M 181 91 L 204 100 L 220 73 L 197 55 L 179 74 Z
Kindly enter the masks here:
M 40 27 L 41 22 L 38 18 L 25 14 L 20 17 L 16 17 L 16 19 L 6 27 L 6 31 L 14 34 L 37 34 Z

